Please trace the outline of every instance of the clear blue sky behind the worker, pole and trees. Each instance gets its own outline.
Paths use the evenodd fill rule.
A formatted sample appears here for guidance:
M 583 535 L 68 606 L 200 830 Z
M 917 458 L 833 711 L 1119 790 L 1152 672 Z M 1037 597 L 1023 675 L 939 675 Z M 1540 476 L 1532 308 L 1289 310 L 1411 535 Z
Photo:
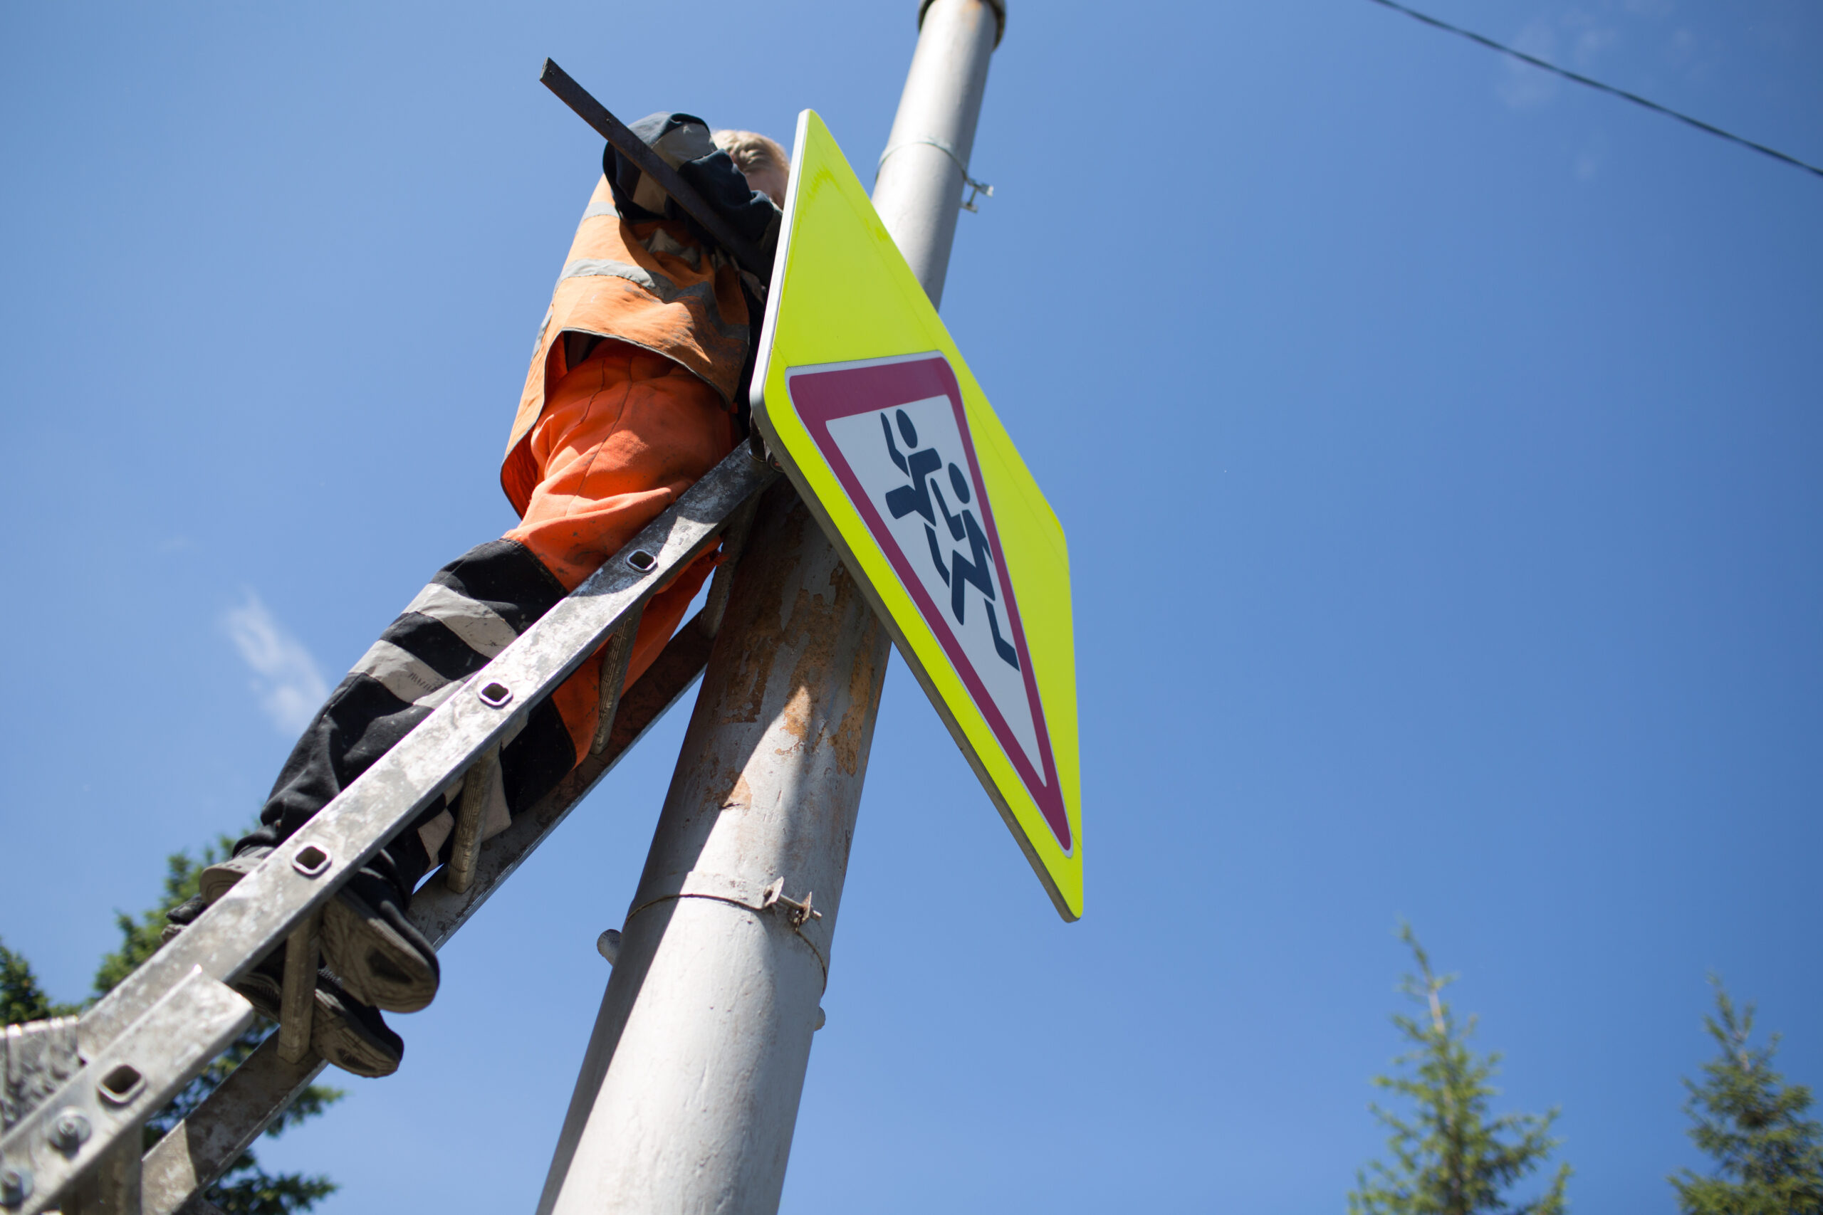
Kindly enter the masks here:
M 1823 160 L 1816 5 L 1427 4 Z M 57 995 L 512 523 L 598 157 L 540 60 L 866 177 L 913 11 L 0 13 L 0 936 Z M 1367 0 L 1015 0 L 973 171 L 944 317 L 1070 536 L 1088 911 L 895 659 L 784 1210 L 1342 1210 L 1402 916 L 1575 1208 L 1674 1210 L 1708 971 L 1823 1084 L 1823 180 Z M 263 1148 L 323 1210 L 536 1200 L 682 727 Z

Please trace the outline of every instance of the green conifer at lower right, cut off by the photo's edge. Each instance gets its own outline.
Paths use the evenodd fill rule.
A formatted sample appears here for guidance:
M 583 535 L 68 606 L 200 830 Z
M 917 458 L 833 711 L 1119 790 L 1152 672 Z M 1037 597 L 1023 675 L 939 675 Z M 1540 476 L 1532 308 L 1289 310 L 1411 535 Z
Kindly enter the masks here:
M 1823 1126 L 1805 1118 L 1810 1089 L 1772 1069 L 1779 1035 L 1754 1047 L 1754 1006 L 1735 1009 L 1721 980 L 1715 1016 L 1703 1027 L 1721 1055 L 1705 1080 L 1684 1080 L 1690 1138 L 1715 1160 L 1715 1177 L 1681 1169 L 1670 1177 L 1686 1215 L 1823 1215 Z

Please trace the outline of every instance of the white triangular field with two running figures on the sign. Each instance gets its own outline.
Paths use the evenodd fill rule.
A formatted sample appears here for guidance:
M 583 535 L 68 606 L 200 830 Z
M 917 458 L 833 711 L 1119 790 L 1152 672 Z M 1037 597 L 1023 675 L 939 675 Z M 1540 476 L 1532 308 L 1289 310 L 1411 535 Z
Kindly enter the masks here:
M 910 557 L 912 577 L 924 597 L 948 619 L 968 667 L 1001 710 L 1026 763 L 1043 772 L 1012 614 L 997 590 L 1003 581 L 999 554 L 977 517 L 984 494 L 970 468 L 950 397 L 835 417 L 829 437 L 899 550 Z M 897 572 L 904 581 L 906 570 Z

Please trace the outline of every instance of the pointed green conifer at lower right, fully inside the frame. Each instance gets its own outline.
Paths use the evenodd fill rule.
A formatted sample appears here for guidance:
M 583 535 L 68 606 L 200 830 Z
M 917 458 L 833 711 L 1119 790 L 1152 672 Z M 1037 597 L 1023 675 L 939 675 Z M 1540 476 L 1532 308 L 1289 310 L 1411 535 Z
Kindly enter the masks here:
M 1406 975 L 1400 991 L 1422 1013 L 1393 1016 L 1413 1049 L 1395 1060 L 1404 1075 L 1375 1077 L 1373 1082 L 1407 1098 L 1415 1117 L 1407 1120 L 1371 1106 L 1393 1131 L 1387 1137 L 1393 1164 L 1373 1160 L 1354 1175 L 1360 1188 L 1349 1193 L 1349 1215 L 1562 1215 L 1568 1164 L 1559 1166 L 1550 1188 L 1531 1202 L 1504 1199 L 1508 1188 L 1557 1149 L 1560 1140 L 1551 1138 L 1557 1109 L 1544 1117 L 1488 1117 L 1488 1100 L 1499 1095 L 1489 1080 L 1500 1055 L 1478 1057 L 1469 1049 L 1475 1018 L 1458 1024 L 1442 998 L 1455 975 L 1431 971 L 1431 958 L 1409 924 L 1400 929 L 1400 940 L 1418 964 L 1418 973 Z

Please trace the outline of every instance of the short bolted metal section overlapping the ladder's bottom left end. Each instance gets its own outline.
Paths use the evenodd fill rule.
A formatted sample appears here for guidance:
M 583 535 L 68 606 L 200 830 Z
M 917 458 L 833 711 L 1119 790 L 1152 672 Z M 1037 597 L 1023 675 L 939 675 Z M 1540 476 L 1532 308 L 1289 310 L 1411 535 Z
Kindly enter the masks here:
M 7 1133 L 5 1162 L 33 1175 L 33 1191 L 9 1206 L 9 1215 L 57 1208 L 73 1180 L 117 1149 L 129 1151 L 137 1166 L 146 1118 L 250 1024 L 253 1006 L 244 996 L 191 967 Z

